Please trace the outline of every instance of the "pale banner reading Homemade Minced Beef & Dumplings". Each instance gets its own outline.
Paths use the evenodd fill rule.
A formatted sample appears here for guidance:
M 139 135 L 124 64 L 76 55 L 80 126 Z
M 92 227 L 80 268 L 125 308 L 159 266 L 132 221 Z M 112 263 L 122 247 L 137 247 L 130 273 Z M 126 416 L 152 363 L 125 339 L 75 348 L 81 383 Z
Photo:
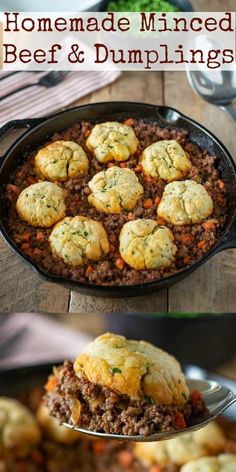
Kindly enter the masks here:
M 2 12 L 3 70 L 229 70 L 235 13 Z

